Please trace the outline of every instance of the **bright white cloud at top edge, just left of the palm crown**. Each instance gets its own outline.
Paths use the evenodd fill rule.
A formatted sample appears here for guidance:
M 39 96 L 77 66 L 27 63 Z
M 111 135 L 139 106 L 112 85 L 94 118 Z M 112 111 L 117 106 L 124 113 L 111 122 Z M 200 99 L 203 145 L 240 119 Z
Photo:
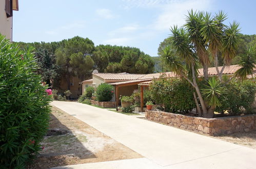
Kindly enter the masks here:
M 188 0 L 165 5 L 163 12 L 153 23 L 156 30 L 167 30 L 170 26 L 182 26 L 185 23 L 185 15 L 188 10 L 208 10 L 211 6 L 210 0 Z

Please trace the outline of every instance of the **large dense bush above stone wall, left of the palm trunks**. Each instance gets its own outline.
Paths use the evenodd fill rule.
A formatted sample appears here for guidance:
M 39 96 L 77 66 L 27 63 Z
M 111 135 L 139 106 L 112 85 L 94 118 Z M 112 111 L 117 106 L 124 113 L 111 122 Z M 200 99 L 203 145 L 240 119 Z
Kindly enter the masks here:
M 179 113 L 195 108 L 193 88 L 181 78 L 153 79 L 150 87 L 152 99 L 157 104 L 164 105 L 165 111 Z

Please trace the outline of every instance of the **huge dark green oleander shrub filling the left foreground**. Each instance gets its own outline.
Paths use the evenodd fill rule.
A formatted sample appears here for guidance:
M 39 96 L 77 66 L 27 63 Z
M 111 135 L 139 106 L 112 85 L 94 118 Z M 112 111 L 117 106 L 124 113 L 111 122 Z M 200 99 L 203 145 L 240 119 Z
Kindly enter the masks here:
M 51 96 L 31 51 L 0 35 L 0 168 L 25 168 L 48 128 Z

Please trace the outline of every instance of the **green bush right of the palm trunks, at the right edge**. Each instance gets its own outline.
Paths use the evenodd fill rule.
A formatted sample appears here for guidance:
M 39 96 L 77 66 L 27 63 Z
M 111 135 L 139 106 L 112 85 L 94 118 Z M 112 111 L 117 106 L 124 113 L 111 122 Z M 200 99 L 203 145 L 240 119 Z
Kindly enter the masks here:
M 251 108 L 256 94 L 254 82 L 232 80 L 226 87 L 228 92 L 220 97 L 221 106 L 216 109 L 216 112 L 224 114 L 228 111 L 230 115 L 256 113 Z

